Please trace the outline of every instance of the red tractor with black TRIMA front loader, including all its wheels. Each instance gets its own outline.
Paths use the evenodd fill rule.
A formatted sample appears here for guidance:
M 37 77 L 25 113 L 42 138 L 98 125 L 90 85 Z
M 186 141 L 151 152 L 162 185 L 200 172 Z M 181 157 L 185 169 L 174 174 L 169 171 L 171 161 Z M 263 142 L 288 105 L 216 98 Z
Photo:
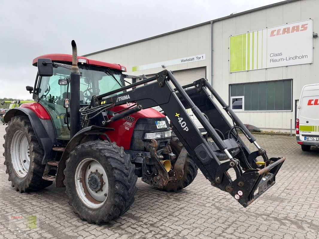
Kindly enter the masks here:
M 122 65 L 77 56 L 74 41 L 72 49 L 73 55 L 35 58 L 35 84 L 26 87 L 35 103 L 22 104 L 4 117 L 4 164 L 16 191 L 41 190 L 55 181 L 56 187 L 66 187 L 80 218 L 99 224 L 130 208 L 137 177 L 176 192 L 193 182 L 199 168 L 212 186 L 244 207 L 274 185 L 285 158 L 269 159 L 206 79 L 180 86 L 164 70 L 125 86 L 124 78 L 134 82 L 142 77 L 124 75 Z M 189 108 L 212 141 L 190 119 Z M 237 129 L 255 144 L 255 152 Z

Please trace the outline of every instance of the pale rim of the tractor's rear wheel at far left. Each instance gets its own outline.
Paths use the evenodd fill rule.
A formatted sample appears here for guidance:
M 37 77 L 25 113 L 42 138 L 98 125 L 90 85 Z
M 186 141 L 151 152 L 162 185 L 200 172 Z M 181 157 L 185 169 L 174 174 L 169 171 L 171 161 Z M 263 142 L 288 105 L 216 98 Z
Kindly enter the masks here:
M 16 175 L 26 177 L 30 167 L 30 147 L 26 134 L 22 131 L 17 131 L 13 135 L 11 160 Z

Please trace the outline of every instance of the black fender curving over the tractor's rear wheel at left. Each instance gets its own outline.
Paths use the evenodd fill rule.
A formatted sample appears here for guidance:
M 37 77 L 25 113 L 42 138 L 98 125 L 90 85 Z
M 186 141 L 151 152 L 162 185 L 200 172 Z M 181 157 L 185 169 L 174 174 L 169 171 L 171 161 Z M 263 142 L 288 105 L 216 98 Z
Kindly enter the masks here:
M 55 137 L 56 133 L 51 119 L 40 119 L 37 114 L 33 112 L 33 110 L 25 107 L 19 107 L 9 110 L 4 116 L 4 121 L 9 122 L 12 117 L 17 115 L 26 115 L 29 117 L 34 134 L 37 137 L 37 140 L 40 143 L 41 147 L 43 148 L 44 155 L 42 164 L 45 164 L 48 161 L 51 149 L 55 144 L 57 144 Z

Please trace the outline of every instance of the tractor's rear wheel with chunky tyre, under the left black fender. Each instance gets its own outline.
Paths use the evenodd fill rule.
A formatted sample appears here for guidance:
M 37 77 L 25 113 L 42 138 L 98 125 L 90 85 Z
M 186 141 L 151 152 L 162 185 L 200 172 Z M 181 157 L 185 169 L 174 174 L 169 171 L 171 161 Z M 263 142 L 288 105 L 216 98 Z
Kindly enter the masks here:
M 52 181 L 42 179 L 45 169 L 42 164 L 44 151 L 35 137 L 29 118 L 11 118 L 5 131 L 3 156 L 11 186 L 16 191 L 25 192 L 51 185 Z

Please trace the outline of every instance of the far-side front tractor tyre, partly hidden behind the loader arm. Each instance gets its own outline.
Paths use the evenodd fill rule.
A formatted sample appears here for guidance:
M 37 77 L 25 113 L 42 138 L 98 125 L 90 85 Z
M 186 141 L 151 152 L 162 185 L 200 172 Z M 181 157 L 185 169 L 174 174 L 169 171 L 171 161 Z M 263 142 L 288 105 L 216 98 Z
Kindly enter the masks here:
M 177 136 L 175 134 L 172 134 L 172 138 L 169 143 L 169 146 L 171 146 L 172 152 L 176 155 L 176 159 L 174 160 L 174 162 L 171 162 L 174 168 L 175 162 L 182 151 L 183 145 L 181 141 L 179 141 Z M 184 166 L 184 175 L 181 178 L 181 180 L 176 183 L 171 181 L 164 188 L 160 190 L 167 191 L 167 192 L 177 192 L 182 190 L 183 188 L 187 187 L 194 181 L 197 175 L 197 170 L 198 170 L 198 167 L 196 163 L 187 154 L 185 166 Z

